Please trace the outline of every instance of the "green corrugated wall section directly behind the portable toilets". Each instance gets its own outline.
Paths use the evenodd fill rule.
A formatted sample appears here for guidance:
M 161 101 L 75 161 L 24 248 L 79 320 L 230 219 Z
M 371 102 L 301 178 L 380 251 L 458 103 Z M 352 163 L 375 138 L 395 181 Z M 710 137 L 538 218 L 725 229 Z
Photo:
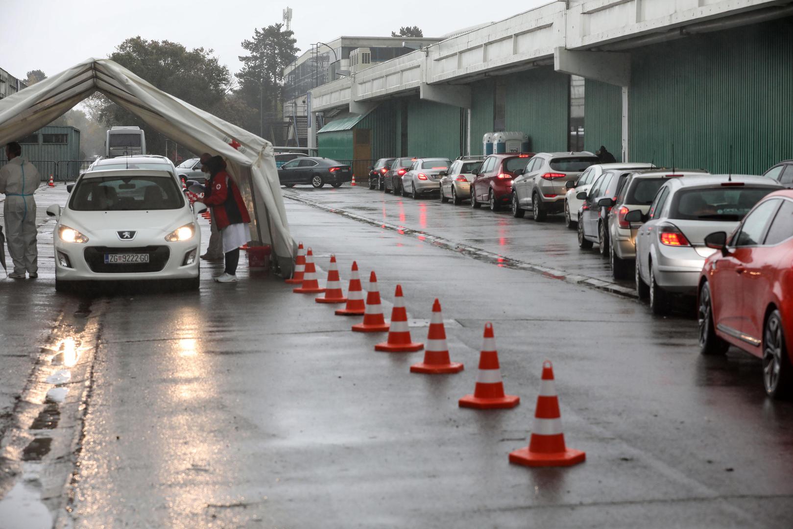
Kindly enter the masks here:
M 506 124 L 531 138 L 531 150 L 565 151 L 570 113 L 570 76 L 534 68 L 504 77 Z

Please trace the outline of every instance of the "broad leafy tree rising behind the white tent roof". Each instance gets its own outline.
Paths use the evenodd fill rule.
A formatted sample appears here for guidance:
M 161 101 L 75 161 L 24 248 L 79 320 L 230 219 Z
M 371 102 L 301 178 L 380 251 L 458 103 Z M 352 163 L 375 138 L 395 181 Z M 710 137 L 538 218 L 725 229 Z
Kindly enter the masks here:
M 221 65 L 212 53 L 211 49 L 188 50 L 182 44 L 168 40 L 145 40 L 136 36 L 119 44 L 109 58 L 160 90 L 212 112 L 223 102 L 232 86 L 228 68 Z M 91 116 L 98 117 L 107 127 L 126 125 L 144 129 L 147 151 L 165 151 L 164 136 L 107 98 L 98 96 L 88 102 L 87 107 Z

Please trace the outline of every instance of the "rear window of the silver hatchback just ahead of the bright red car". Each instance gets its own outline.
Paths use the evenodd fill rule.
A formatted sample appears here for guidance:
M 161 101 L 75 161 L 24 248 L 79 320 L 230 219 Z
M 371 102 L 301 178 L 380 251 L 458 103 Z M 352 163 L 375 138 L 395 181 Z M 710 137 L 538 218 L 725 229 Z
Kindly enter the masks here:
M 770 187 L 724 186 L 680 190 L 672 199 L 669 218 L 684 220 L 741 220 Z

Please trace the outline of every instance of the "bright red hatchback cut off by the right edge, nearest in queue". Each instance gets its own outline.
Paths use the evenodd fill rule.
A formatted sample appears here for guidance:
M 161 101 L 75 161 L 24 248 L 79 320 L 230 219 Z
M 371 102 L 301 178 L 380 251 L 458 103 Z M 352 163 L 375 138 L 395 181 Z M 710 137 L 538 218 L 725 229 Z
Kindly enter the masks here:
M 763 359 L 770 397 L 793 392 L 793 190 L 768 194 L 729 238 L 705 238 L 718 251 L 699 277 L 699 348 L 730 345 Z

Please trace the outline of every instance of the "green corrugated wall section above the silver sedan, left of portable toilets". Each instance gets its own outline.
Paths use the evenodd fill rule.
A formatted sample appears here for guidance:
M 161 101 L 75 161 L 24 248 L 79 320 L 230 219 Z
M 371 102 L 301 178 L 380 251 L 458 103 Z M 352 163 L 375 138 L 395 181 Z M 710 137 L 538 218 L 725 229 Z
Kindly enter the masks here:
M 408 155 L 457 158 L 460 107 L 418 98 L 408 100 Z

